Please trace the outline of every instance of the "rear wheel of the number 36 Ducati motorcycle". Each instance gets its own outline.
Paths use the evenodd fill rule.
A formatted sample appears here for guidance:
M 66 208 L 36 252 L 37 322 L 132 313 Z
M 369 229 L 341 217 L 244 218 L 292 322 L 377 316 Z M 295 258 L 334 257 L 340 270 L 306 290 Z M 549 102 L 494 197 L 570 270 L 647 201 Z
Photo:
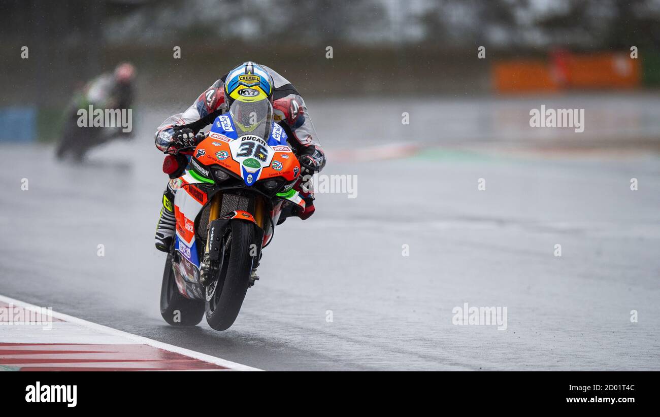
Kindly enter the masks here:
M 160 287 L 160 315 L 173 326 L 194 326 L 204 316 L 204 302 L 185 298 L 179 292 L 172 269 L 172 255 L 167 255 Z

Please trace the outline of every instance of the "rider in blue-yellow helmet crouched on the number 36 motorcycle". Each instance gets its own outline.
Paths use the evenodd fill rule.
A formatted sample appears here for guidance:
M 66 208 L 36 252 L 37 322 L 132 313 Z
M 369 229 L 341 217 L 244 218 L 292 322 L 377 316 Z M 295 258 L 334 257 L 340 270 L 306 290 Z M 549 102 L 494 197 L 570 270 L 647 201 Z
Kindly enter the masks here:
M 203 133 L 199 131 L 213 123 L 218 115 L 227 112 L 238 97 L 240 75 L 258 77 L 259 86 L 255 88 L 261 90 L 264 98 L 273 104 L 275 121 L 284 128 L 289 144 L 300 162 L 300 178 L 319 172 L 325 166 L 323 148 L 298 90 L 269 67 L 249 61 L 238 65 L 214 82 L 185 112 L 165 119 L 156 131 L 156 147 L 168 154 L 163 171 L 170 176 L 163 193 L 163 208 L 156 228 L 156 249 L 160 251 L 168 252 L 174 237 L 174 193 L 178 186 L 175 179 L 183 174 L 195 146 L 204 139 Z M 280 222 L 287 216 L 298 216 L 305 220 L 314 214 L 313 191 L 301 189 L 300 181 L 294 188 L 300 191 L 306 207 L 301 211 L 288 204 L 282 209 Z

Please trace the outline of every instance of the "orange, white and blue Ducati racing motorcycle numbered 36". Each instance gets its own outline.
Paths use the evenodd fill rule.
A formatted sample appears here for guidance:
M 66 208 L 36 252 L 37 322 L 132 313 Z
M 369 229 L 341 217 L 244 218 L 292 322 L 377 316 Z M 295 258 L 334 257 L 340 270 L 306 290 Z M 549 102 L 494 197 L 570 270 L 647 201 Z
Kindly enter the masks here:
M 282 205 L 305 207 L 294 189 L 300 164 L 286 140 L 268 100 L 236 100 L 174 180 L 176 234 L 160 294 L 171 325 L 197 325 L 206 315 L 222 331 L 236 320 Z

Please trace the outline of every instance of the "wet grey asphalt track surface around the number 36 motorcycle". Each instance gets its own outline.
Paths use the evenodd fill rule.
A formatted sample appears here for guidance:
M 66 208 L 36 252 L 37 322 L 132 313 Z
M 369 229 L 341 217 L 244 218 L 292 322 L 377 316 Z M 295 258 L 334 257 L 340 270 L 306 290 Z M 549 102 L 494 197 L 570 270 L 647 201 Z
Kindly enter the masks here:
M 277 228 L 261 280 L 223 333 L 170 327 L 158 311 L 165 255 L 152 241 L 166 177 L 151 135 L 167 110 L 141 113 L 138 139 L 82 164 L 56 161 L 51 146 L 2 144 L 0 294 L 268 370 L 658 370 L 660 158 L 626 147 L 657 123 L 657 100 L 642 99 L 618 104 L 647 113 L 607 130 L 618 150 L 566 150 L 599 137 L 590 119 L 583 137 L 531 129 L 531 99 L 410 102 L 410 125 L 395 100 L 362 103 L 370 111 L 357 119 L 356 104 L 317 103 L 331 156 L 421 146 L 392 160 L 330 159 L 323 174 L 357 176 L 357 197 L 319 194 L 310 220 Z M 576 100 L 605 121 L 616 107 Z M 493 127 L 503 113 L 511 122 Z M 330 118 L 352 122 L 341 131 Z M 562 146 L 529 146 L 539 141 Z M 507 307 L 506 331 L 453 325 L 465 302 Z

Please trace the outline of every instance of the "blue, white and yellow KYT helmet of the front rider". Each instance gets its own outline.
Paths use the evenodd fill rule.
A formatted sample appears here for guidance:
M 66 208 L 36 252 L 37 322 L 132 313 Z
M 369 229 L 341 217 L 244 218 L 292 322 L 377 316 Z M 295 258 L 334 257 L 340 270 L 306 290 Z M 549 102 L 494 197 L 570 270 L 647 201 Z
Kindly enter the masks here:
M 230 107 L 235 100 L 252 103 L 273 101 L 273 77 L 261 65 L 251 61 L 232 69 L 224 80 L 224 101 Z

